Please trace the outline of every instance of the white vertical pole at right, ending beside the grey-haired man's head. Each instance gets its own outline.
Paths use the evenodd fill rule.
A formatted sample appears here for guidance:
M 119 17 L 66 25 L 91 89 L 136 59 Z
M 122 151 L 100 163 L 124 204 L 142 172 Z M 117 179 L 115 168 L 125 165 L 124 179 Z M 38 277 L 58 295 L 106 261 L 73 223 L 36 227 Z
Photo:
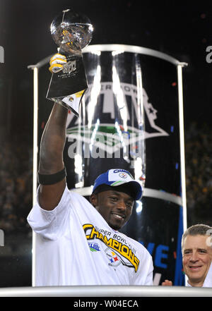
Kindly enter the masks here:
M 182 92 L 182 66 L 177 66 L 178 79 L 178 98 L 179 98 L 179 144 L 180 144 L 180 167 L 182 183 L 182 209 L 183 209 L 183 230 L 187 229 L 187 197 L 186 197 L 186 175 L 185 175 L 185 157 L 184 157 L 184 112 L 183 112 L 183 92 Z

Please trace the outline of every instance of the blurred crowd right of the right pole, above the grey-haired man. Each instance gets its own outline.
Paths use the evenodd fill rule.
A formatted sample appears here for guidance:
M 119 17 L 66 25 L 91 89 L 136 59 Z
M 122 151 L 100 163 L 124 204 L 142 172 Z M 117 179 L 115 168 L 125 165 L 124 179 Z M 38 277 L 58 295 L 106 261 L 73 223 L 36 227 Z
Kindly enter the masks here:
M 188 225 L 212 219 L 212 130 L 193 122 L 185 131 Z

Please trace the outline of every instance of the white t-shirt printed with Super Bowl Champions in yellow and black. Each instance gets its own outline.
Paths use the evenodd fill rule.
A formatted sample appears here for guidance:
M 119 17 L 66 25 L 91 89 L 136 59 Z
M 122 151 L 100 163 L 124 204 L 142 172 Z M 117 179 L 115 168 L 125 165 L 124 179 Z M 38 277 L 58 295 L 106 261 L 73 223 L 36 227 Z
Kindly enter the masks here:
M 153 285 L 141 243 L 114 231 L 86 198 L 67 186 L 52 211 L 28 215 L 36 234 L 35 286 Z

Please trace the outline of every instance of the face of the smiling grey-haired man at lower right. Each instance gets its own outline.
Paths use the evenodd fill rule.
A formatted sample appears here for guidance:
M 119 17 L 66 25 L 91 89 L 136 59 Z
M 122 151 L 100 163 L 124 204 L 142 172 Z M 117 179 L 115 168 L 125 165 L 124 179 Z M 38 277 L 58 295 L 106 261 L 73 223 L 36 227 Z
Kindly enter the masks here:
M 184 273 L 192 286 L 202 286 L 211 264 L 212 252 L 206 240 L 208 236 L 187 236 L 182 248 Z

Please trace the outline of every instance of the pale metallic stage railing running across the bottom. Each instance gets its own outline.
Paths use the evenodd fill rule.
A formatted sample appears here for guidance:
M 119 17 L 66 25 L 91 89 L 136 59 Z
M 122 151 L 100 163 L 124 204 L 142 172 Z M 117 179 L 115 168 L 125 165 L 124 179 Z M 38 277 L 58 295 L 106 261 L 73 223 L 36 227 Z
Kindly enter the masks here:
M 0 288 L 0 297 L 212 297 L 212 288 L 184 286 L 50 286 Z

